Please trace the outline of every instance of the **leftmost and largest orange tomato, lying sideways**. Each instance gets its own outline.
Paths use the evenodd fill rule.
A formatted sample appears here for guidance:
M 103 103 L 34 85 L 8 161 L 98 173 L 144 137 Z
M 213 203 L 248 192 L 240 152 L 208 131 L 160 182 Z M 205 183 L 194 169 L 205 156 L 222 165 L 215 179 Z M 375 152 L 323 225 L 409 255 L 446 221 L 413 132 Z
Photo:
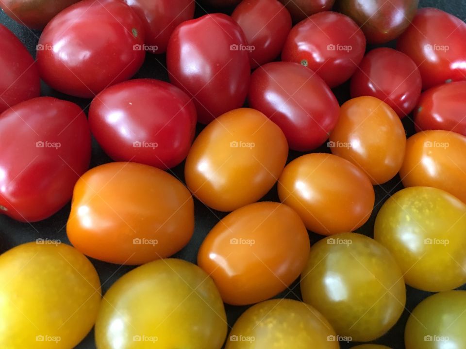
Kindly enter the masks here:
M 67 235 L 92 258 L 133 265 L 166 258 L 181 250 L 193 231 L 191 193 L 154 167 L 107 163 L 83 174 L 74 188 Z

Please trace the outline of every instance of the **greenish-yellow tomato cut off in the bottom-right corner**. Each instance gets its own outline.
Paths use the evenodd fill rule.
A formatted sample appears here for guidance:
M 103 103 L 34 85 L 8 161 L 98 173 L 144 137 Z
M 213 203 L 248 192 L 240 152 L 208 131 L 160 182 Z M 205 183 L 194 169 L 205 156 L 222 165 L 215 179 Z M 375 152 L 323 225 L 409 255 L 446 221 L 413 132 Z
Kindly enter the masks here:
M 406 349 L 466 348 L 466 291 L 436 293 L 414 308 L 404 331 Z

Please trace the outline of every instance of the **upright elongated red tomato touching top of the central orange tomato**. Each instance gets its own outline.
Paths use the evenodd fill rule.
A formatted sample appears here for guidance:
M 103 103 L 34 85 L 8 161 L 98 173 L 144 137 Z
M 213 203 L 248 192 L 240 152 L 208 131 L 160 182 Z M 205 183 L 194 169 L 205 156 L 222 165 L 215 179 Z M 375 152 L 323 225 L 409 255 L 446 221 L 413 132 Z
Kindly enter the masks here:
M 170 82 L 193 99 L 200 123 L 243 105 L 250 79 L 246 44 L 241 27 L 224 14 L 185 21 L 170 36 Z

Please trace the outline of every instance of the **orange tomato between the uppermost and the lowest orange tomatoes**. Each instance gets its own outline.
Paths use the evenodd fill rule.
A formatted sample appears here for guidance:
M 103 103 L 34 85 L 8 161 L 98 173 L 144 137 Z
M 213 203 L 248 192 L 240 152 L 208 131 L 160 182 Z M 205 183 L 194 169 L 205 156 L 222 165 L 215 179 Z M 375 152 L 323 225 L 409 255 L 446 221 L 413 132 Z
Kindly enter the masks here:
M 286 165 L 278 196 L 294 208 L 306 228 L 332 235 L 359 228 L 374 206 L 374 188 L 350 161 L 332 154 L 307 154 Z

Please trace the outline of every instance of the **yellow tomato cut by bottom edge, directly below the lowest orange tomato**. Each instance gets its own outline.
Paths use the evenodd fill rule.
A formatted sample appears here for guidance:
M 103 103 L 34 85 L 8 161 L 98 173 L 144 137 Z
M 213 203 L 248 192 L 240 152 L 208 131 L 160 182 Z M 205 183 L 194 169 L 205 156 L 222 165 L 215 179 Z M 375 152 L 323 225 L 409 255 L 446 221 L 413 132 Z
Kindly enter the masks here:
M 225 349 L 338 349 L 332 325 L 309 304 L 273 299 L 255 304 L 233 325 Z

